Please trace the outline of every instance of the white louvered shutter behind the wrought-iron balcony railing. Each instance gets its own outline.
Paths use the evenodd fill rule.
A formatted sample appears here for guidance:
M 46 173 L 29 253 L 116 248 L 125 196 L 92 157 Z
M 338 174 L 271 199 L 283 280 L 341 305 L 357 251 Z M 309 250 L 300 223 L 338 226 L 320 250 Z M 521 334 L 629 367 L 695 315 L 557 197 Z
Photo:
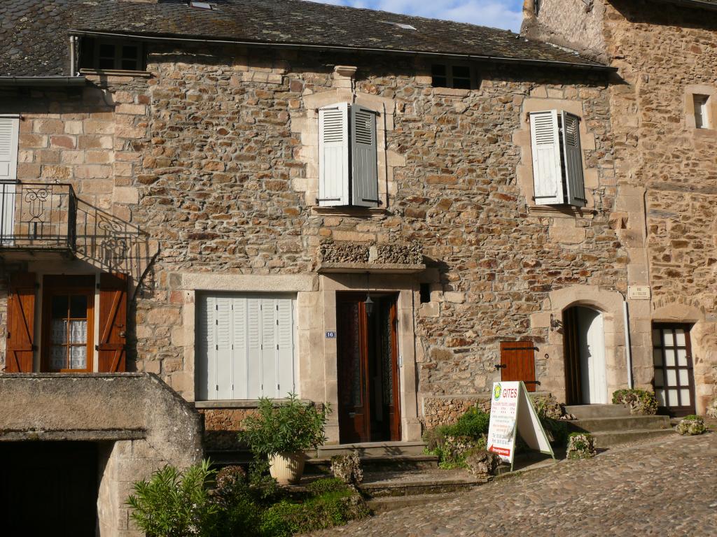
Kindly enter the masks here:
M 12 243 L 17 180 L 19 117 L 0 116 L 0 243 Z

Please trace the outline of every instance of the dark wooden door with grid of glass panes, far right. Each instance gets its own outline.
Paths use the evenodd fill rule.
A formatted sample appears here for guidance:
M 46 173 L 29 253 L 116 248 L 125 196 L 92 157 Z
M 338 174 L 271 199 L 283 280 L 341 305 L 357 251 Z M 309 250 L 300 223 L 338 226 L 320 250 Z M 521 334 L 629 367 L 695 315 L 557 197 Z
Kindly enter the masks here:
M 682 417 L 695 413 L 695 384 L 690 325 L 652 326 L 655 398 L 661 413 Z

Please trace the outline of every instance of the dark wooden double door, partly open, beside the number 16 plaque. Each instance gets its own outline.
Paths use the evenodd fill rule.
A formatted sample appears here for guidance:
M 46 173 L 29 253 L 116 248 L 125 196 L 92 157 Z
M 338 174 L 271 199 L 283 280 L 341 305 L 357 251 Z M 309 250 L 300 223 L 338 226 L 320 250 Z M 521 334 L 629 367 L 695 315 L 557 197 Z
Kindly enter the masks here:
M 398 312 L 393 295 L 336 298 L 341 443 L 401 440 Z

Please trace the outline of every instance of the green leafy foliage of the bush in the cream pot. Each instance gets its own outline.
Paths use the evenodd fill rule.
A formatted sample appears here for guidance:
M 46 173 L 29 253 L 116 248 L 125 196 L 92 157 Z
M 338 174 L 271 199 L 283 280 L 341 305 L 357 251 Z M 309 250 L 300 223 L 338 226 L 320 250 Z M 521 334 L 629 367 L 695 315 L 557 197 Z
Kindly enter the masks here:
M 278 405 L 262 398 L 258 412 L 242 421 L 239 440 L 249 444 L 255 455 L 265 457 L 316 448 L 326 442 L 324 427 L 330 412 L 328 403 L 319 410 L 313 403 L 298 400 L 294 393 Z

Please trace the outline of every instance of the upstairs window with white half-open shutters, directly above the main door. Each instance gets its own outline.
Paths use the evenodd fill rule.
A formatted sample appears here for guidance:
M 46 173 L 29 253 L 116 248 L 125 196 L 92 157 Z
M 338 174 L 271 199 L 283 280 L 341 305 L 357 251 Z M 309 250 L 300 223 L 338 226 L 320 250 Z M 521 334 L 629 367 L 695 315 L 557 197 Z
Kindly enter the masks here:
M 340 102 L 318 112 L 321 207 L 378 207 L 377 112 Z

